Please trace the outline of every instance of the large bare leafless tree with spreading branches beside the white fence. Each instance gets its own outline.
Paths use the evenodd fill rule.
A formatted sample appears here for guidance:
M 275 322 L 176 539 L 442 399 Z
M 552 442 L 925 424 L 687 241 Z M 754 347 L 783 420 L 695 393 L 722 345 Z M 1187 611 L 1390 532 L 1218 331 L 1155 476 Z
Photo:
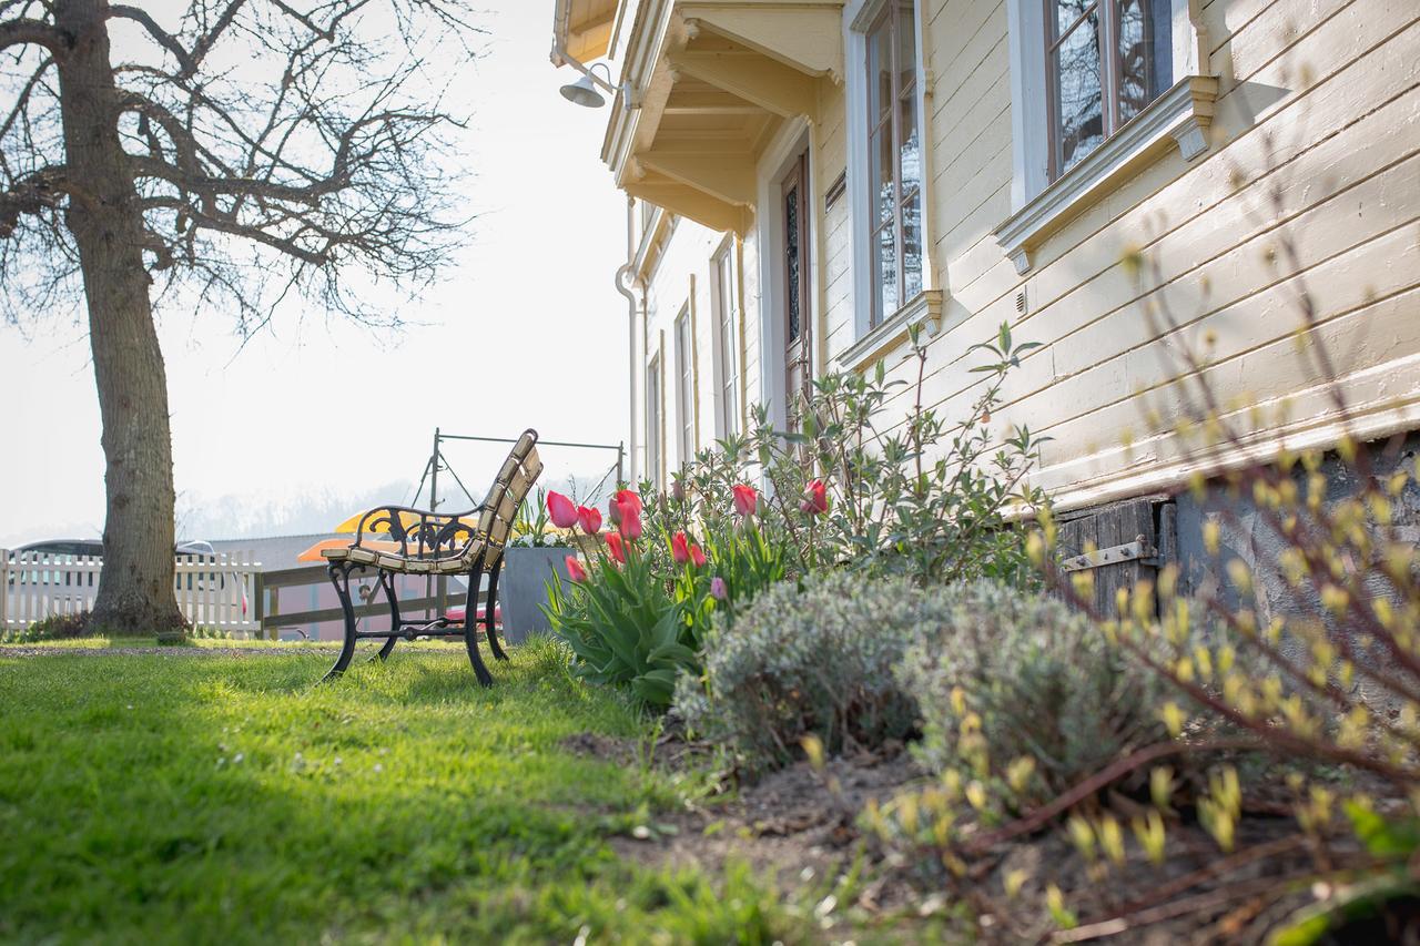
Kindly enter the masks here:
M 442 102 L 471 33 L 462 0 L 0 0 L 0 307 L 87 305 L 95 626 L 183 625 L 155 305 L 393 321 L 361 298 L 417 291 L 460 233 Z

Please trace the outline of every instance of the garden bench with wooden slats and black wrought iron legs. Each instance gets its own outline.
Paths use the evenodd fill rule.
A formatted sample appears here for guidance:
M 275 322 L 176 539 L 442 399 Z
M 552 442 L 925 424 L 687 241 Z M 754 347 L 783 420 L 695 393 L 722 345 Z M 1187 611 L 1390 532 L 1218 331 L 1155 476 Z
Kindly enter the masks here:
M 346 548 L 327 548 L 321 554 L 329 560 L 331 582 L 339 595 L 345 611 L 345 641 L 335 666 L 325 679 L 339 676 L 355 656 L 355 645 L 364 639 L 383 638 L 385 643 L 375 655 L 383 660 L 395 649 L 400 638 L 463 636 L 469 648 L 469 662 L 483 686 L 493 686 L 483 656 L 479 653 L 479 585 L 488 577 L 487 605 L 484 608 L 484 636 L 488 649 L 498 660 L 507 660 L 498 635 L 494 629 L 494 601 L 498 594 L 498 574 L 503 571 L 503 550 L 513 531 L 513 520 L 528 490 L 542 472 L 537 455 L 537 430 L 524 430 L 508 452 L 508 459 L 493 480 L 493 487 L 483 504 L 464 513 L 436 514 L 405 506 L 381 506 L 361 517 L 355 541 Z M 382 551 L 362 545 L 366 535 L 388 531 L 399 545 L 398 551 Z M 385 631 L 361 631 L 355 622 L 355 607 L 351 598 L 351 575 L 373 570 L 379 588 L 389 602 L 389 628 Z M 449 616 L 444 608 L 435 618 L 406 619 L 399 612 L 395 595 L 395 575 L 466 575 L 469 592 L 463 621 Z

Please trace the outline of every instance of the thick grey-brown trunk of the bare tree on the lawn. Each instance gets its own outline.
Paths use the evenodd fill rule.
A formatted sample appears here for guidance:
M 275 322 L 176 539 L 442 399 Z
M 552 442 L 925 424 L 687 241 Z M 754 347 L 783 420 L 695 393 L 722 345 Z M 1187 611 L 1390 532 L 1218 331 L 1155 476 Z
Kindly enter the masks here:
M 168 378 L 143 267 L 143 217 L 118 136 L 106 0 L 58 0 L 72 37 L 58 61 L 74 234 L 104 423 L 104 572 L 92 626 L 112 634 L 185 628 L 173 595 L 173 462 Z

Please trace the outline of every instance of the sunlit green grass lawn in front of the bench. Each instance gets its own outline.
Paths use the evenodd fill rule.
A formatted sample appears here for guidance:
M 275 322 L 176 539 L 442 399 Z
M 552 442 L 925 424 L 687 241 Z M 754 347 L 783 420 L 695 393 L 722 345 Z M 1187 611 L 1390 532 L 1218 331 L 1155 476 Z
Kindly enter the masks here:
M 3 940 L 811 936 L 747 871 L 612 854 L 680 788 L 561 747 L 649 724 L 552 646 L 517 649 L 490 690 L 437 645 L 328 686 L 331 652 L 290 645 L 18 652 L 0 646 Z

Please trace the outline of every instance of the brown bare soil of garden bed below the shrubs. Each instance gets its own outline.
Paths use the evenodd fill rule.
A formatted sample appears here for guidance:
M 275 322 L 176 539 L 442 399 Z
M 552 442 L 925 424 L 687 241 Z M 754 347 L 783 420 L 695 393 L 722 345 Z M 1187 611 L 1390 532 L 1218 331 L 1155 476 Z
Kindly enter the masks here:
M 622 763 L 643 751 L 633 741 L 591 734 L 572 737 L 567 746 Z M 704 751 L 663 740 L 655 764 L 684 767 Z M 903 918 L 930 916 L 966 902 L 981 923 L 963 933 L 991 943 L 1255 943 L 1314 896 L 1304 879 L 1314 861 L 1281 791 L 1277 798 L 1248 798 L 1233 855 L 1220 852 L 1184 811 L 1169 825 L 1169 857 L 1156 868 L 1129 832 L 1132 803 L 1116 797 L 1110 804 L 1129 838 L 1122 866 L 1092 866 L 1056 827 L 997 845 L 968 865 L 967 878 L 953 884 L 930 855 L 905 858 L 886 851 L 858 827 L 858 814 L 869 800 L 886 803 L 923 780 L 905 751 L 832 759 L 822 771 L 801 761 L 720 801 L 656 814 L 656 824 L 638 830 L 636 837 L 615 838 L 612 847 L 621 857 L 653 868 L 719 872 L 736 862 L 748 864 L 788 896 L 825 895 L 856 861 L 862 881 L 853 886 L 853 901 L 836 905 L 839 909 L 890 918 L 893 935 L 910 936 Z M 1329 848 L 1342 861 L 1353 852 L 1340 838 Z M 1007 898 L 1005 878 L 1015 871 L 1030 879 L 1015 898 Z M 1288 878 L 1298 881 L 1288 886 Z M 1079 920 L 1076 929 L 1061 930 L 1052 919 L 1045 896 L 1049 885 L 1062 891 Z

